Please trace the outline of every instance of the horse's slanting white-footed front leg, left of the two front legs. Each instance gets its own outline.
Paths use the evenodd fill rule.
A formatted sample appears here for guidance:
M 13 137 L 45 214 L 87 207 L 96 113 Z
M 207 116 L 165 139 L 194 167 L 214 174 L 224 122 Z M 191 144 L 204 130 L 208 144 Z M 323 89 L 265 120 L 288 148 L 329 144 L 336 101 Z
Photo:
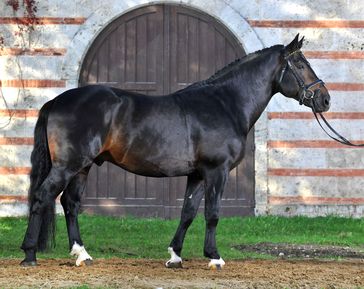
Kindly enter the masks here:
M 168 251 L 171 254 L 171 259 L 166 263 L 166 267 L 168 268 L 178 268 L 182 266 L 181 251 L 183 241 L 188 227 L 191 225 L 197 214 L 203 195 L 203 180 L 198 176 L 190 175 L 187 179 L 187 188 L 181 212 L 181 220 L 176 234 L 168 248 Z

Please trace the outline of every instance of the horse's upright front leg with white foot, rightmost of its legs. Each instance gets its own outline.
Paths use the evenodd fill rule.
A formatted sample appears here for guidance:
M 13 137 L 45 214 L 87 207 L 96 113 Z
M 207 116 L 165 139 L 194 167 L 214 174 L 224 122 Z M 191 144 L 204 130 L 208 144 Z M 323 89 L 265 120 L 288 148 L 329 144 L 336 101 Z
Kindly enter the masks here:
M 206 234 L 204 255 L 210 258 L 208 265 L 210 269 L 220 270 L 225 265 L 216 247 L 216 227 L 219 222 L 220 201 L 228 173 L 226 169 L 215 169 L 207 171 L 205 176 Z

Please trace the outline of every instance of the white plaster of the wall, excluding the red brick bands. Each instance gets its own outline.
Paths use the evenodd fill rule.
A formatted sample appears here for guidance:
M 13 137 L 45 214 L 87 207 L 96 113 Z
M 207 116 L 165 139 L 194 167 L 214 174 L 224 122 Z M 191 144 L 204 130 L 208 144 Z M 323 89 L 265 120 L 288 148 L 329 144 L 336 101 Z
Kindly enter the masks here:
M 65 48 L 64 56 L 0 56 L 1 79 L 54 79 L 65 80 L 65 88 L 8 88 L 1 89 L 7 104 L 1 101 L 0 109 L 39 109 L 49 99 L 63 90 L 78 85 L 79 71 L 92 41 L 114 19 L 143 5 L 175 3 L 187 5 L 215 17 L 239 39 L 247 53 L 277 43 L 288 43 L 296 35 L 305 35 L 304 50 L 361 51 L 364 49 L 363 28 L 266 28 L 252 27 L 250 20 L 364 20 L 364 2 L 360 0 L 49 0 L 40 1 L 39 17 L 84 17 L 82 25 L 38 25 L 32 32 L 31 48 Z M 11 9 L 0 3 L 0 17 L 14 16 Z M 22 16 L 22 11 L 17 16 Z M 9 47 L 24 46 L 23 40 L 14 36 L 16 25 L 0 25 L 0 34 Z M 312 67 L 325 82 L 364 83 L 364 59 L 310 59 Z M 363 112 L 363 91 L 332 91 L 334 112 Z M 1 95 L 0 95 L 1 96 Z M 308 112 L 297 102 L 275 96 L 267 111 L 255 127 L 256 142 L 256 213 L 257 214 L 309 214 L 326 213 L 361 216 L 362 204 L 353 206 L 294 206 L 271 205 L 269 196 L 363 196 L 360 177 L 288 177 L 269 175 L 269 169 L 363 169 L 364 150 L 326 148 L 267 147 L 269 140 L 327 140 L 312 119 L 271 119 L 271 112 Z M 36 118 L 0 115 L 0 137 L 32 137 Z M 333 126 L 354 140 L 364 140 L 364 120 L 331 120 Z M 31 148 L 0 144 L 0 160 L 5 167 L 29 165 Z M 330 188 L 330 189 L 328 189 Z M 25 195 L 27 177 L 1 175 L 0 195 Z M 364 205 L 364 204 L 363 204 Z M 0 204 L 0 212 L 4 204 Z M 8 205 L 7 205 L 8 206 Z M 19 205 L 23 206 L 23 205 Z M 7 207 L 9 208 L 9 207 Z M 290 208 L 287 210 L 287 208 Z M 6 209 L 9 212 L 8 209 Z

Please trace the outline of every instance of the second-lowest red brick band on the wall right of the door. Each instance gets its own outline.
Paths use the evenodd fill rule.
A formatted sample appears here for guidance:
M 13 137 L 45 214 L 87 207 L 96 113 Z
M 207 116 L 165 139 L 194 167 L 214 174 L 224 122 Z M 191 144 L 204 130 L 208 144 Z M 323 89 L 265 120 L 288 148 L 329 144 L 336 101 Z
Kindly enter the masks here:
M 364 169 L 268 169 L 269 176 L 275 177 L 364 177 Z

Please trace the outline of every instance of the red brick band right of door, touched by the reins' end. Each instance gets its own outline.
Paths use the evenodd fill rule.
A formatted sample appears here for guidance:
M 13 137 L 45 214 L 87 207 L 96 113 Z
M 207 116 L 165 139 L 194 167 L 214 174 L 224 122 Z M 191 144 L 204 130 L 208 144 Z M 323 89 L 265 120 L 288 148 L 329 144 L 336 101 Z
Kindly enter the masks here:
M 362 141 L 352 141 L 354 144 L 364 143 Z M 268 148 L 337 148 L 337 149 L 354 149 L 360 147 L 350 147 L 330 140 L 293 140 L 293 141 L 273 141 L 267 143 Z

